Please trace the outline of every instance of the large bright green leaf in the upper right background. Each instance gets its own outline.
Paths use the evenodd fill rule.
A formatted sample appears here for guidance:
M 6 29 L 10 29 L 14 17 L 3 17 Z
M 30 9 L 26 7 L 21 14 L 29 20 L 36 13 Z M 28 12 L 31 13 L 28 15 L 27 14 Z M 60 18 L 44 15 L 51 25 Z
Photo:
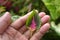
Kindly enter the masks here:
M 56 20 L 60 13 L 58 13 L 58 7 L 60 7 L 60 0 L 43 0 L 44 4 L 46 5 L 46 7 L 48 8 L 48 10 L 50 11 L 50 15 L 52 17 L 53 20 Z

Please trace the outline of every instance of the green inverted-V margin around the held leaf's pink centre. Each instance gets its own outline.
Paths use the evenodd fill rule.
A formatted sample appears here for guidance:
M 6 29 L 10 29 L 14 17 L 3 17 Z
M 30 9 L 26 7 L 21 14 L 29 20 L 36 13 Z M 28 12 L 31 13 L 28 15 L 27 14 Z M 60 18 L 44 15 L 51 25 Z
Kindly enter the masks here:
M 28 19 L 26 21 L 26 26 L 29 27 L 31 25 L 33 17 L 34 17 L 37 29 L 39 29 L 41 22 L 40 22 L 40 17 L 39 17 L 36 10 L 31 11 L 31 14 L 29 15 L 29 17 L 28 17 Z

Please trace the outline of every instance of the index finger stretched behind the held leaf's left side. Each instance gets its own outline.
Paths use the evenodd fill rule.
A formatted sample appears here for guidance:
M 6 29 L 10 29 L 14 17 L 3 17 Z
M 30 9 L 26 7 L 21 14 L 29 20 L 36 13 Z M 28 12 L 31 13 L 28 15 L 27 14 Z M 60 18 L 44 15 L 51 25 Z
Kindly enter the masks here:
M 25 16 L 20 17 L 15 22 L 11 24 L 12 27 L 15 29 L 19 29 L 21 26 L 23 26 L 28 18 L 28 16 L 31 14 L 31 12 L 27 13 Z

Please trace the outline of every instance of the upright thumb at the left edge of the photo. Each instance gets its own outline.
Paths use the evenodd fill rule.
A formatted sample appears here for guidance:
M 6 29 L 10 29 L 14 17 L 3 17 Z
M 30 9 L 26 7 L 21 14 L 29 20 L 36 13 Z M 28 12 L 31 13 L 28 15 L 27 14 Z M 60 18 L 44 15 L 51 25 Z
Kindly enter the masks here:
M 1 18 L 0 18 L 0 34 L 2 34 L 5 29 L 8 27 L 8 25 L 11 23 L 11 15 L 9 12 L 6 12 Z

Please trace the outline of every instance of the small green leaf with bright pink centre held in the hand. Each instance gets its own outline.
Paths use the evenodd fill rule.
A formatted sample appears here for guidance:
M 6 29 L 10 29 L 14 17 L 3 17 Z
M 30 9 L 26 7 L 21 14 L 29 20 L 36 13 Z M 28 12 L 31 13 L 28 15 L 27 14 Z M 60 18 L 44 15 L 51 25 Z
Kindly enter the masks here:
M 38 15 L 38 12 L 34 9 L 33 11 L 31 11 L 31 14 L 26 21 L 26 27 L 30 31 L 34 32 L 35 30 L 40 29 L 40 24 L 40 17 Z

